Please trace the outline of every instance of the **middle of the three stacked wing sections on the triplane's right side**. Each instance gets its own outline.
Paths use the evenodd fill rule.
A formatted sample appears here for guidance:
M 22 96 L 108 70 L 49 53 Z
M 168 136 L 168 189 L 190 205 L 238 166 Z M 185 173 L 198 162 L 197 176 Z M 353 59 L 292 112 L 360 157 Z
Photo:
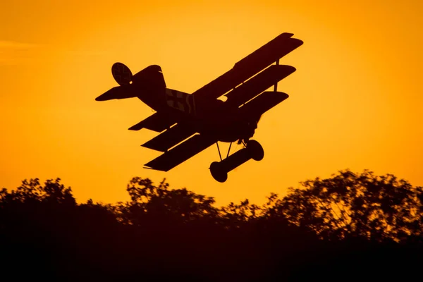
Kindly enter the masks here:
M 228 106 L 240 106 L 293 73 L 293 66 L 273 65 L 226 94 Z

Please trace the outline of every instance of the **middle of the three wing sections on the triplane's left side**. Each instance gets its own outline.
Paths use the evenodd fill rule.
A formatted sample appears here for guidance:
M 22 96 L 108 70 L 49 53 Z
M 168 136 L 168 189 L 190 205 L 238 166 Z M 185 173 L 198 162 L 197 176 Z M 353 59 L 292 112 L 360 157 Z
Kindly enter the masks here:
M 195 131 L 192 128 L 179 123 L 141 146 L 165 152 L 193 134 L 195 134 Z

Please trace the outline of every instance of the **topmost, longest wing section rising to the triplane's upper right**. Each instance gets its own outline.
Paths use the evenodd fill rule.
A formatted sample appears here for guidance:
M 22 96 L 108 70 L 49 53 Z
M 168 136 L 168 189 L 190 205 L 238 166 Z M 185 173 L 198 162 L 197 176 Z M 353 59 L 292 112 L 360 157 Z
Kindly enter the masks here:
M 303 42 L 300 39 L 291 38 L 292 36 L 293 34 L 291 33 L 279 35 L 271 42 L 235 63 L 235 66 L 230 71 L 192 93 L 195 95 L 196 103 L 207 103 L 209 99 L 221 97 L 221 95 L 251 78 L 252 75 L 259 73 L 259 71 L 300 47 Z

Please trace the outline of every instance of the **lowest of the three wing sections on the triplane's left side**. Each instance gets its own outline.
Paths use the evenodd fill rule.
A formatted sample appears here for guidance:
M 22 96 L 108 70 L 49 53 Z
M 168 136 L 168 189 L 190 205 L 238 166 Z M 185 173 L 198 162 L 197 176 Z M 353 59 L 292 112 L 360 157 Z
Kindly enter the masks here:
M 190 157 L 202 152 L 216 142 L 216 139 L 211 136 L 197 134 L 190 139 L 182 142 L 180 145 L 174 147 L 170 151 L 161 154 L 156 159 L 149 161 L 145 166 L 157 171 L 169 171 L 171 168 L 182 164 Z

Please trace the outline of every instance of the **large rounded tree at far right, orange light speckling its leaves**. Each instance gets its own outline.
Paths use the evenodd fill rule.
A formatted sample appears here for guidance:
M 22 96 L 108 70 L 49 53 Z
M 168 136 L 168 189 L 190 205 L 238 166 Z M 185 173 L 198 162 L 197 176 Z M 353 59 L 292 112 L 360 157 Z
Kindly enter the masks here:
M 422 236 L 422 188 L 406 180 L 346 170 L 302 185 L 305 189 L 291 189 L 275 208 L 288 221 L 311 228 L 321 238 L 399 242 Z

